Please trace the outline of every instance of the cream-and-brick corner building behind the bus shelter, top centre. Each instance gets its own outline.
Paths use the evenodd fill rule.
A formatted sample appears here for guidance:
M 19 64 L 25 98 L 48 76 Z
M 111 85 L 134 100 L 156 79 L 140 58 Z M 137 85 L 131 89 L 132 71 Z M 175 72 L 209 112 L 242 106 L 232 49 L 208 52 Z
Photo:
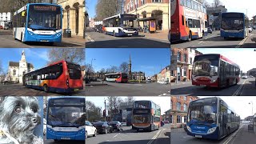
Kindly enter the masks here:
M 123 5 L 124 13 L 137 14 L 140 26 L 145 26 L 146 20 L 155 19 L 157 30 L 169 30 L 169 9 L 169 0 L 124 0 Z

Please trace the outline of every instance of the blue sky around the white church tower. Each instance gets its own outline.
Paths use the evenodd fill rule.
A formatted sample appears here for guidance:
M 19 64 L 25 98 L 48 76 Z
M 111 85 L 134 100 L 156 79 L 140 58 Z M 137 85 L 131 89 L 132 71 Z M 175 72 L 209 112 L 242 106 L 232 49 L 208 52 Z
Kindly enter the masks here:
M 25 51 L 26 62 L 32 63 L 35 69 L 46 66 L 48 57 L 47 49 L 38 48 L 1 48 L 0 60 L 2 62 L 2 68 L 8 70 L 9 62 L 19 62 L 22 58 L 22 50 Z

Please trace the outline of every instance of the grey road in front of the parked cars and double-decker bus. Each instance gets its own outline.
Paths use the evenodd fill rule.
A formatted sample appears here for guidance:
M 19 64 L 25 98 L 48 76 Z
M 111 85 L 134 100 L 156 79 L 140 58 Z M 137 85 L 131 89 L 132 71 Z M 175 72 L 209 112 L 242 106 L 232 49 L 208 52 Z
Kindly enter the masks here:
M 160 127 L 151 132 L 131 130 L 124 126 L 122 131 L 109 134 L 97 134 L 96 137 L 86 138 L 86 144 L 158 144 L 170 143 L 170 125 Z

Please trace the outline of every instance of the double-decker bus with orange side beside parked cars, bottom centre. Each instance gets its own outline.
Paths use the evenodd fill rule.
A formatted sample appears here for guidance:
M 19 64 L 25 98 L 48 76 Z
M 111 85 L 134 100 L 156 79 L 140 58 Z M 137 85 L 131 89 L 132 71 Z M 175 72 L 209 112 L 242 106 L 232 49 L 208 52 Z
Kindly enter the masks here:
M 135 101 L 132 110 L 132 127 L 134 130 L 158 130 L 161 126 L 161 108 L 151 101 Z

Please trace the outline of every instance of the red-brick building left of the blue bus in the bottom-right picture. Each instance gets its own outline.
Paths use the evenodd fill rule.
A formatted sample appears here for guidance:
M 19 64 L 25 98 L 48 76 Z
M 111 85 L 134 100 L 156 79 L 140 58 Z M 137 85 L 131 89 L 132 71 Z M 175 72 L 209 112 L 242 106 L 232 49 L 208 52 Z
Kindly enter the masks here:
M 198 99 L 196 96 L 171 96 L 169 115 L 170 128 L 179 128 L 186 122 L 186 114 L 190 102 Z

